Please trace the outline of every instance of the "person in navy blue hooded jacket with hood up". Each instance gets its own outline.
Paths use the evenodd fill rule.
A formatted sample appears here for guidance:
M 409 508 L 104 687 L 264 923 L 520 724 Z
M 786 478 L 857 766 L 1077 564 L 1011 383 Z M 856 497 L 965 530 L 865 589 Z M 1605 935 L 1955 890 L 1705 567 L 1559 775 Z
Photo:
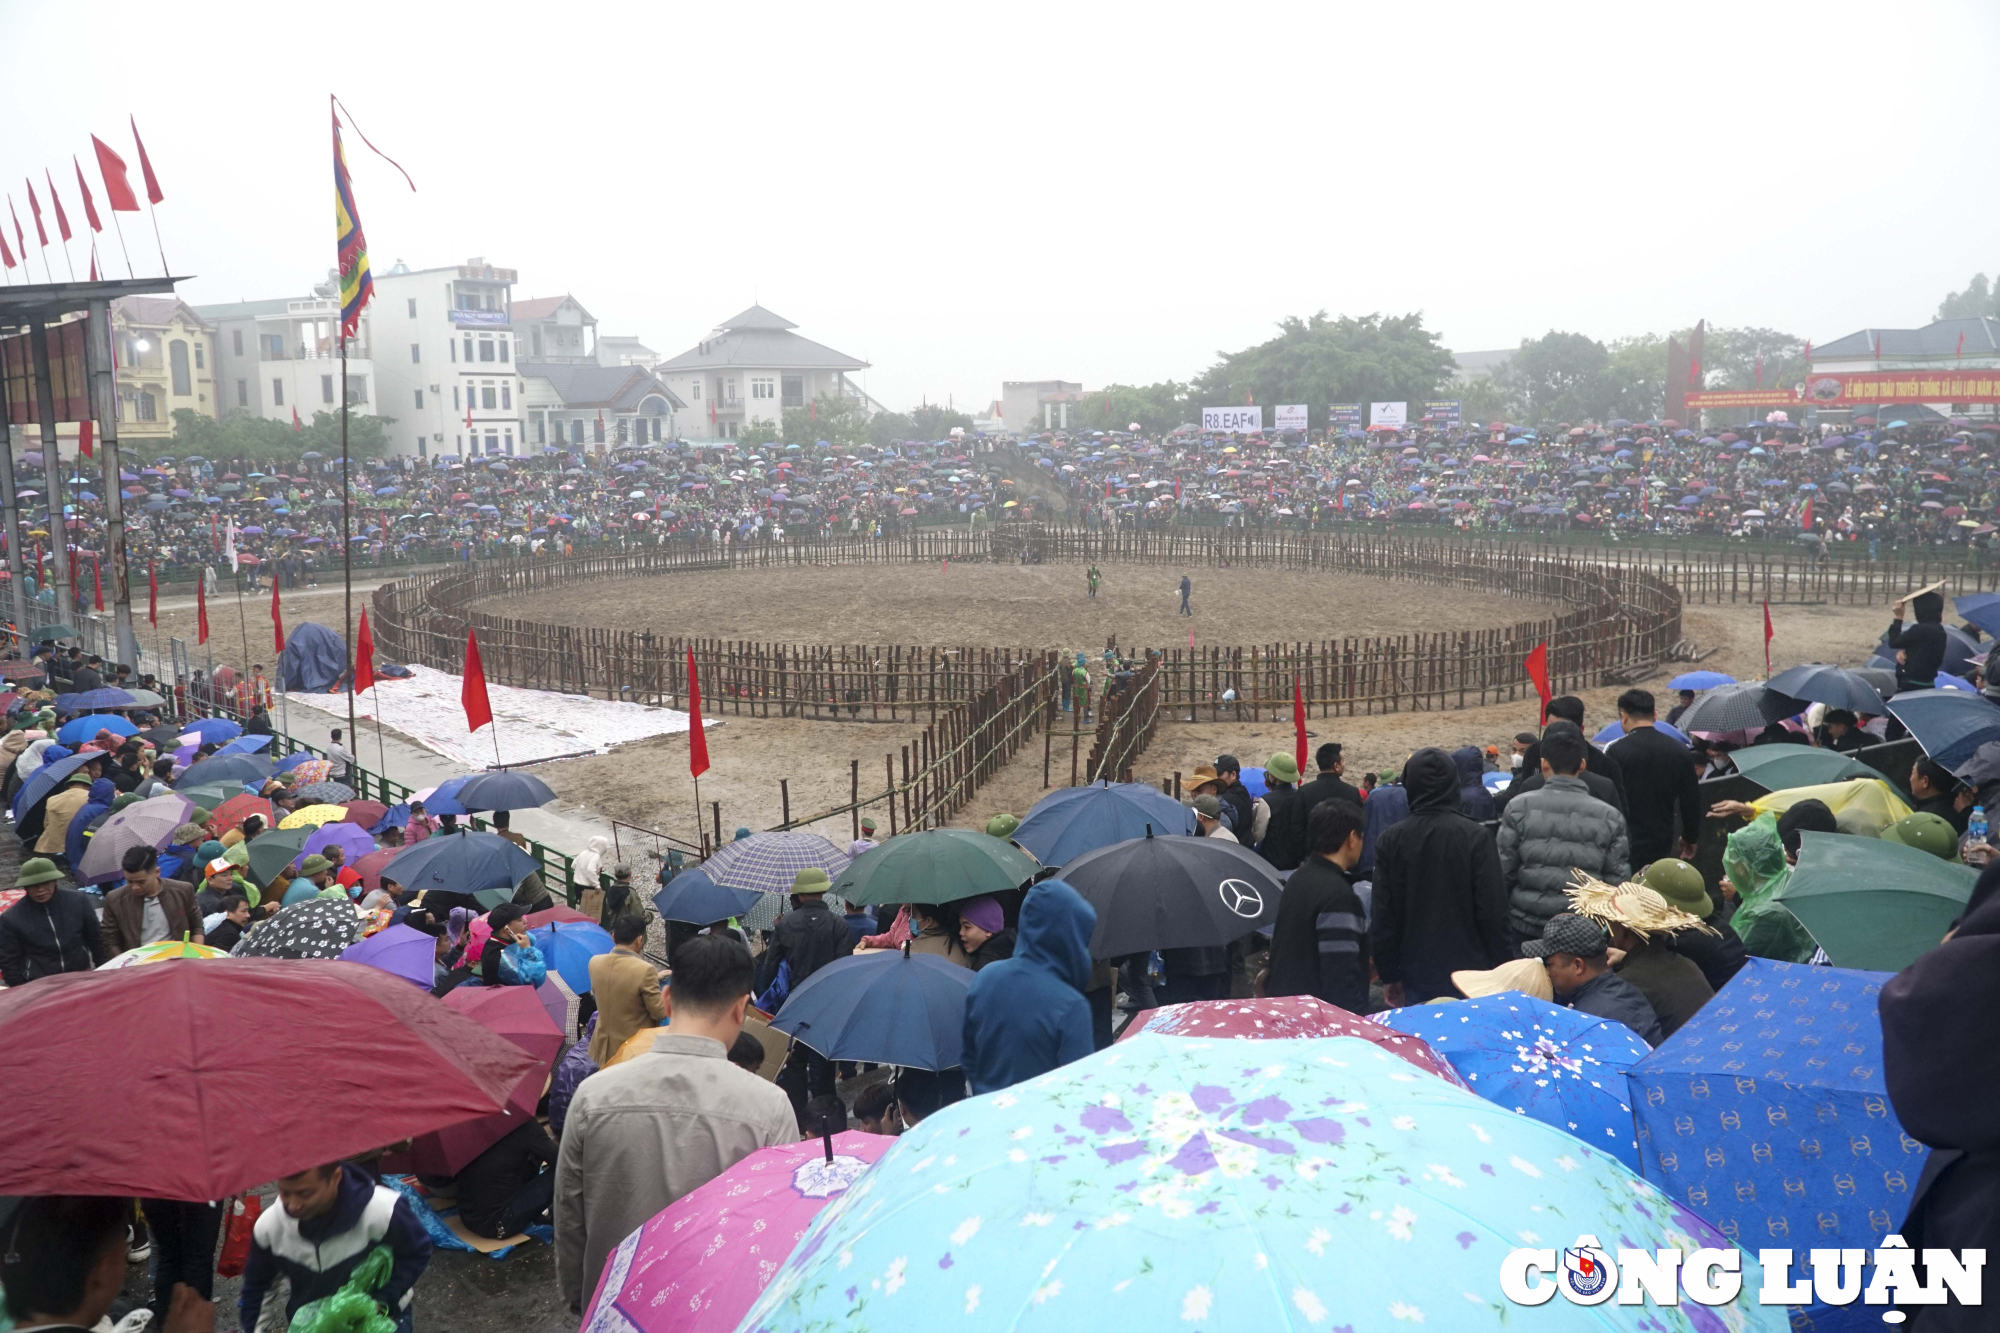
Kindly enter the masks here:
M 1060 879 L 1020 905 L 1014 957 L 972 979 L 966 993 L 964 1071 L 974 1093 L 994 1093 L 1092 1051 L 1090 935 L 1098 913 Z

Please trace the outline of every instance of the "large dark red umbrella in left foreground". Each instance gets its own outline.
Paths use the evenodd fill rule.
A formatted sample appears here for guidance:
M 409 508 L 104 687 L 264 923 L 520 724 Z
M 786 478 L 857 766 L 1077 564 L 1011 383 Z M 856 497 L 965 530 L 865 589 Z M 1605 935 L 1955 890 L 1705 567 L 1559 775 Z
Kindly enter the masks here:
M 226 1199 L 492 1115 L 542 1077 L 402 977 L 304 959 L 44 977 L 0 991 L 0 1051 L 6 1195 Z

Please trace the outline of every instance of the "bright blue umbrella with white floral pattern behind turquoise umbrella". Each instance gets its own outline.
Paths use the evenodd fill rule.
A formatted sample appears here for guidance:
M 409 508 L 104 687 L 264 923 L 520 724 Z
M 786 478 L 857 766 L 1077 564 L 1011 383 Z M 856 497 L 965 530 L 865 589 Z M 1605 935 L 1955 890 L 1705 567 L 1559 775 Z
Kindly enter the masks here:
M 1518 991 L 1390 1009 L 1382 1023 L 1428 1041 L 1486 1101 L 1638 1169 L 1624 1071 L 1650 1047 L 1624 1023 Z

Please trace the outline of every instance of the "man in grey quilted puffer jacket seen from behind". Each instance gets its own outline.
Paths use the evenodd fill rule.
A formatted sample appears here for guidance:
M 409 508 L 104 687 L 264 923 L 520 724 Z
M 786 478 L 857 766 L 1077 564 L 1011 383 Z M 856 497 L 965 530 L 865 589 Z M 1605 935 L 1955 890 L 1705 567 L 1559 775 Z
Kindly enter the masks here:
M 1592 797 L 1578 777 L 1588 751 L 1580 731 L 1550 727 L 1542 735 L 1542 789 L 1522 793 L 1500 817 L 1500 871 L 1516 949 L 1542 939 L 1548 919 L 1570 911 L 1574 871 L 1612 885 L 1630 873 L 1624 815 Z

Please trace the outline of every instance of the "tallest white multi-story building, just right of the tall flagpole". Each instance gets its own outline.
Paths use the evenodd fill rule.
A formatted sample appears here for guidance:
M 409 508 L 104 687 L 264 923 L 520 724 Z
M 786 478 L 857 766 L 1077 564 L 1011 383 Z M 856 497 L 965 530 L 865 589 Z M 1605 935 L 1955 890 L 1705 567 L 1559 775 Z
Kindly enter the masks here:
M 484 258 L 374 274 L 376 410 L 400 450 L 524 452 L 516 278 Z

